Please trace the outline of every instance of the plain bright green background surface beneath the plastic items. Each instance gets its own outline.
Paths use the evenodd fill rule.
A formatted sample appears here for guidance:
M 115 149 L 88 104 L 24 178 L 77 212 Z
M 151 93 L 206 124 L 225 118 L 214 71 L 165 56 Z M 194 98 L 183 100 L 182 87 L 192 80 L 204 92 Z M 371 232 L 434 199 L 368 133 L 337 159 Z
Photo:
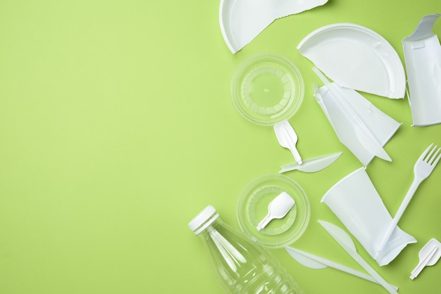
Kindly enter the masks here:
M 404 61 L 401 39 L 439 0 L 330 0 L 276 20 L 239 53 L 223 41 L 218 0 L 0 1 L 0 293 L 222 293 L 187 223 L 213 205 L 237 227 L 236 203 L 252 179 L 292 162 L 271 127 L 232 105 L 230 79 L 263 51 L 297 64 L 305 98 L 290 123 L 304 159 L 342 151 L 327 169 L 290 172 L 311 201 L 293 247 L 362 269 L 317 223 L 342 226 L 320 203 L 361 167 L 313 98 L 312 63 L 297 44 L 330 23 L 381 34 Z M 441 21 L 434 32 L 441 35 Z M 402 127 L 367 172 L 394 215 L 421 152 L 441 124 L 411 127 L 407 99 L 364 94 Z M 409 279 L 418 251 L 441 240 L 441 168 L 400 221 L 418 240 L 389 265 L 359 253 L 399 293 L 439 292 L 441 265 Z M 272 250 L 306 293 L 385 293 L 334 269 L 309 269 Z M 383 292 L 382 292 L 383 291 Z

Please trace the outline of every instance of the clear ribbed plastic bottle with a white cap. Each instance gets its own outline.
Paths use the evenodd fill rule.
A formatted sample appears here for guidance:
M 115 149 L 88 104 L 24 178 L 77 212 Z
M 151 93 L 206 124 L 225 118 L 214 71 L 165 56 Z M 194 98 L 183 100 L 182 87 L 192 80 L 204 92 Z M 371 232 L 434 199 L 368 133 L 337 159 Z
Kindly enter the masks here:
M 268 249 L 225 224 L 213 206 L 207 206 L 188 226 L 209 249 L 227 293 L 304 293 Z

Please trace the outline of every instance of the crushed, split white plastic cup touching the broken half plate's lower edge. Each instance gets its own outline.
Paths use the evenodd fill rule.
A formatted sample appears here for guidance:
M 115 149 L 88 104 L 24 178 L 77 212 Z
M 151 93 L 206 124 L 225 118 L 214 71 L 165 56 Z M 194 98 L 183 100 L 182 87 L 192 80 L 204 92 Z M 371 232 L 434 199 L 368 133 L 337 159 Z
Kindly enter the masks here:
M 365 167 L 375 156 L 392 161 L 383 146 L 401 124 L 357 91 L 329 82 L 317 68 L 313 71 L 325 84 L 320 89 L 316 87 L 314 97 L 344 146 Z

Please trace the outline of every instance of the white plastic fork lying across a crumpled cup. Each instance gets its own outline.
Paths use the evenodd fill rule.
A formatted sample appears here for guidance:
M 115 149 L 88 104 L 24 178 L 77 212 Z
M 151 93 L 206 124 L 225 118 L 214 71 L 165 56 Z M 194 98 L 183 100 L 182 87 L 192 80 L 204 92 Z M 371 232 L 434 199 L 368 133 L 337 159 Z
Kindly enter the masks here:
M 423 152 L 423 154 L 421 154 L 418 160 L 416 160 L 414 166 L 414 181 L 412 182 L 409 191 L 407 191 L 406 196 L 404 196 L 404 200 L 402 201 L 401 205 L 399 205 L 398 211 L 395 214 L 395 217 L 392 219 L 392 223 L 387 228 L 386 234 L 383 237 L 380 246 L 378 247 L 377 256 L 385 247 L 385 244 L 389 240 L 390 235 L 392 235 L 392 232 L 397 226 L 399 219 L 402 217 L 404 210 L 406 210 L 406 207 L 411 201 L 412 196 L 414 196 L 416 189 L 422 181 L 430 176 L 438 161 L 440 161 L 441 148 L 437 148 L 436 145 L 432 148 L 432 146 L 433 143 L 431 143 L 430 146 L 428 146 L 428 148 Z M 430 148 L 432 148 L 432 150 L 430 150 Z

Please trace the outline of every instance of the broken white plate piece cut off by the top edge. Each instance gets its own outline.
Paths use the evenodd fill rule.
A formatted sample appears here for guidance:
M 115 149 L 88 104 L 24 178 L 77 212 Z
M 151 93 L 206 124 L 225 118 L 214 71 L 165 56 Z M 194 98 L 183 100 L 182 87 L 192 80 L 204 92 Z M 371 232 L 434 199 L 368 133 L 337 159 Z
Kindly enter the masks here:
M 228 49 L 240 51 L 274 20 L 301 13 L 328 0 L 221 0 L 219 23 Z

